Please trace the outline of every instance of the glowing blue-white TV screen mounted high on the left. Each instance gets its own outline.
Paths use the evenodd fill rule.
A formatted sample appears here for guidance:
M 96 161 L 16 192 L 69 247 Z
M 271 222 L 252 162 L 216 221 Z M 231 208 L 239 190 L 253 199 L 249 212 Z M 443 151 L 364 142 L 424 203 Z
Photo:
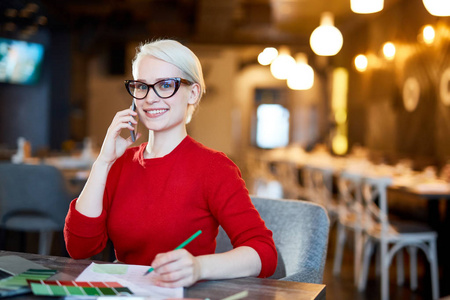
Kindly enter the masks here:
M 0 82 L 37 83 L 43 57 L 41 44 L 0 38 Z

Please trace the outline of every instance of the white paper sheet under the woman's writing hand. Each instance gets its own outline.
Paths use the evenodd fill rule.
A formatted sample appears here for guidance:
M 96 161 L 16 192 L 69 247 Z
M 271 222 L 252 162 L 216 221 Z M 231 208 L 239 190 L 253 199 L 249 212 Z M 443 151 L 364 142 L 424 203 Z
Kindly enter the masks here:
M 183 288 L 163 288 L 152 284 L 153 274 L 144 276 L 148 266 L 91 263 L 76 281 L 115 281 L 128 287 L 135 296 L 183 298 Z

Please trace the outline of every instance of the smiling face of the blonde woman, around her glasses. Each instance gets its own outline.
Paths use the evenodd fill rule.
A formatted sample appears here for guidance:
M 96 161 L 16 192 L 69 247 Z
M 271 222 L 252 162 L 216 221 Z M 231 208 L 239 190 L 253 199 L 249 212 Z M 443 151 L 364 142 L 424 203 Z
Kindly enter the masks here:
M 139 62 L 135 80 L 154 84 L 167 78 L 183 78 L 183 72 L 176 66 L 145 56 Z M 150 89 L 142 100 L 135 99 L 139 121 L 149 130 L 156 132 L 177 132 L 185 130 L 185 120 L 188 104 L 197 101 L 192 93 L 193 86 L 181 84 L 178 91 L 170 98 L 162 99 Z

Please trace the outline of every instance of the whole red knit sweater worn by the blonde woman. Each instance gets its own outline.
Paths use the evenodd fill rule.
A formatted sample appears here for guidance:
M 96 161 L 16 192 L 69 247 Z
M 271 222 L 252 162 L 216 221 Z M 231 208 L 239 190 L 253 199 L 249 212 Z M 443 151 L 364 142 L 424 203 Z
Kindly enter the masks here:
M 116 257 L 150 265 L 201 229 L 185 249 L 194 256 L 212 254 L 219 224 L 234 247 L 255 249 L 262 262 L 259 277 L 271 276 L 277 252 L 254 208 L 238 167 L 225 154 L 187 136 L 171 153 L 143 159 L 146 143 L 129 148 L 111 168 L 103 212 L 89 218 L 72 201 L 64 237 L 76 259 L 101 252 L 111 239 Z

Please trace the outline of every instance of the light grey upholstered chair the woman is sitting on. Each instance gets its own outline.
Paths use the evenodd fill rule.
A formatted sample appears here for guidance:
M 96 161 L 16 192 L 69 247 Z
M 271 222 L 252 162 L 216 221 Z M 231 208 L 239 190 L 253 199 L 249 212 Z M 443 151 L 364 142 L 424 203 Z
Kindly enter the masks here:
M 330 221 L 325 208 L 302 200 L 252 196 L 253 204 L 272 230 L 278 266 L 271 278 L 322 283 Z M 220 228 L 216 252 L 232 248 Z

